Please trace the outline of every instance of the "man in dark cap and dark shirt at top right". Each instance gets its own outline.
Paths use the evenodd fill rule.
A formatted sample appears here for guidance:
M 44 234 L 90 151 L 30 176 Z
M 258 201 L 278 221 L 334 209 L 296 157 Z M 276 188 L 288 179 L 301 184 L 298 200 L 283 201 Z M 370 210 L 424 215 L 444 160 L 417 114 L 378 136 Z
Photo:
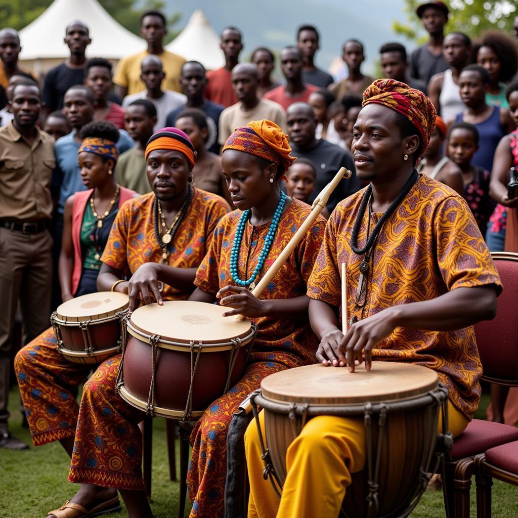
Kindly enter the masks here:
M 442 40 L 444 25 L 448 22 L 448 7 L 442 2 L 427 2 L 417 8 L 417 15 L 423 20 L 430 39 L 421 47 L 415 49 L 410 56 L 410 76 L 421 79 L 426 84 L 431 76 L 439 74 L 448 68 L 448 63 L 442 55 Z

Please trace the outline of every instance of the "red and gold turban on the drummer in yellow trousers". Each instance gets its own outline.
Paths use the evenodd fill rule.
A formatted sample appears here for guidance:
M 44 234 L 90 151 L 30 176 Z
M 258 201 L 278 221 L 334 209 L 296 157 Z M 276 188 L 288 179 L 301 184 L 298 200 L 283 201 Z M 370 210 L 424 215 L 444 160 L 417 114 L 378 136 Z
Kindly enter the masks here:
M 418 129 L 426 149 L 435 129 L 437 112 L 423 92 L 394 79 L 377 79 L 363 93 L 362 106 L 370 103 L 381 104 L 406 117 Z

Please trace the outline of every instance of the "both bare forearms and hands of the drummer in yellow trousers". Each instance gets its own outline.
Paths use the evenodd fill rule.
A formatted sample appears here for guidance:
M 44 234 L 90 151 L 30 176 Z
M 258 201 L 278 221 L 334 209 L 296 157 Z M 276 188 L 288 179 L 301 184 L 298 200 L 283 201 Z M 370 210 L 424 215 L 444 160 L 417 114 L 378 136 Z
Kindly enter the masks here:
M 460 287 L 432 300 L 400 304 L 384 309 L 352 324 L 343 335 L 335 309 L 321 300 L 311 299 L 309 320 L 320 345 L 316 358 L 324 365 L 348 366 L 355 361 L 372 366 L 372 350 L 396 327 L 431 331 L 450 331 L 493 318 L 496 292 L 492 286 Z

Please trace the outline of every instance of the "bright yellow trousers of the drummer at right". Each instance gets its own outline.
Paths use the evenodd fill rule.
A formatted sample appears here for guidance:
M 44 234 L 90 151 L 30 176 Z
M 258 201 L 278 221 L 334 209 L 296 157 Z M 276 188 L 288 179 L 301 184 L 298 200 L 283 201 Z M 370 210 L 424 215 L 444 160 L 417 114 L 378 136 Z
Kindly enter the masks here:
M 468 420 L 448 402 L 449 426 L 454 437 Z M 260 413 L 264 433 L 264 412 Z M 438 433 L 442 430 L 439 419 Z M 263 479 L 264 464 L 255 420 L 244 435 L 250 478 L 248 518 L 334 518 L 338 516 L 351 473 L 365 466 L 363 418 L 317 416 L 304 426 L 286 452 L 286 481 L 282 497 Z

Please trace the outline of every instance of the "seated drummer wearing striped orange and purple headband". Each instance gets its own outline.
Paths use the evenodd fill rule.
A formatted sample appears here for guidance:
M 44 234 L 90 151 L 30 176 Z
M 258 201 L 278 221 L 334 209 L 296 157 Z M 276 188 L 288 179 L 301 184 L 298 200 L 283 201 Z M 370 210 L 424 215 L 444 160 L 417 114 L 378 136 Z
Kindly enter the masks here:
M 130 308 L 138 298 L 187 299 L 214 228 L 229 210 L 220 196 L 191 186 L 195 152 L 182 131 L 167 127 L 155 133 L 145 157 L 152 192 L 128 200 L 117 214 L 97 279 L 99 291 L 127 293 Z M 124 280 L 126 271 L 130 281 Z M 152 515 L 140 467 L 138 423 L 145 414 L 115 392 L 119 365 L 120 355 L 114 356 L 84 384 L 69 451 L 69 480 L 82 485 L 51 517 L 108 512 L 118 503 L 117 490 L 131 516 Z

